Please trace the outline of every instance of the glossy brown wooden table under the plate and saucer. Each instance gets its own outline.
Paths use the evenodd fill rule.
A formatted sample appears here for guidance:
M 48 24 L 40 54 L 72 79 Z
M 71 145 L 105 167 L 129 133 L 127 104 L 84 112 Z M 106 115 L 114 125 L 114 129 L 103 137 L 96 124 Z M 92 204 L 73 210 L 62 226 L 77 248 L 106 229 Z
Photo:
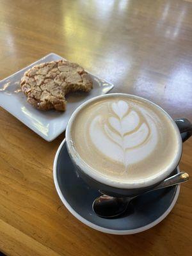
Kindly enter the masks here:
M 0 1 L 0 79 L 49 52 L 192 121 L 190 0 Z M 10 102 L 11 104 L 11 102 Z M 61 203 L 48 143 L 0 109 L 0 250 L 6 255 L 189 255 L 192 189 L 156 227 L 132 236 L 86 227 Z M 180 168 L 192 175 L 192 140 Z

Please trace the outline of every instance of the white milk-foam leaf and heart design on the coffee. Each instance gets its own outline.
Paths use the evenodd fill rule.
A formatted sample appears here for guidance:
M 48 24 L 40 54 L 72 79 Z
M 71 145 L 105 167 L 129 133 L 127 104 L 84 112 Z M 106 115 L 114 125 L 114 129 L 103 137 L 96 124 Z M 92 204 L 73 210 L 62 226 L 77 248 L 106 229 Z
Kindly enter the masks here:
M 129 164 L 145 159 L 156 147 L 154 120 L 142 109 L 133 109 L 124 100 L 109 102 L 109 115 L 97 115 L 90 124 L 90 138 L 101 154 L 112 161 Z

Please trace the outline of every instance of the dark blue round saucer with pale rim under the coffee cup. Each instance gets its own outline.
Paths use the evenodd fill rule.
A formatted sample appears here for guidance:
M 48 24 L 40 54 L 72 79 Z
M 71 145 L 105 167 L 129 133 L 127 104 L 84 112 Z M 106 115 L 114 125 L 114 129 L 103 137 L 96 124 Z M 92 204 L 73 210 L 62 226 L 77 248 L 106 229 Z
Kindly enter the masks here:
M 172 175 L 179 172 L 179 168 Z M 54 159 L 54 184 L 61 201 L 78 220 L 89 227 L 109 234 L 135 234 L 154 227 L 172 211 L 180 186 L 159 189 L 132 201 L 128 215 L 103 219 L 92 210 L 93 200 L 100 193 L 88 186 L 74 170 L 65 140 Z

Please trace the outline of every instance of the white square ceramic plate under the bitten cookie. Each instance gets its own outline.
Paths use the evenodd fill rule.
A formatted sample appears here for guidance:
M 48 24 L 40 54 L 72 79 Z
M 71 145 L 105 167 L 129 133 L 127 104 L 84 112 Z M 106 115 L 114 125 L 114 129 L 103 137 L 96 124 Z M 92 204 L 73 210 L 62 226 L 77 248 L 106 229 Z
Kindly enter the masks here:
M 90 93 L 69 93 L 67 95 L 67 110 L 65 112 L 55 110 L 44 112 L 33 108 L 27 102 L 26 96 L 19 90 L 21 77 L 26 70 L 36 64 L 61 58 L 57 54 L 50 53 L 12 76 L 0 81 L 0 106 L 47 141 L 54 140 L 61 132 L 65 131 L 70 116 L 80 104 L 92 97 L 108 93 L 113 88 L 113 84 L 90 74 L 93 80 L 93 90 Z

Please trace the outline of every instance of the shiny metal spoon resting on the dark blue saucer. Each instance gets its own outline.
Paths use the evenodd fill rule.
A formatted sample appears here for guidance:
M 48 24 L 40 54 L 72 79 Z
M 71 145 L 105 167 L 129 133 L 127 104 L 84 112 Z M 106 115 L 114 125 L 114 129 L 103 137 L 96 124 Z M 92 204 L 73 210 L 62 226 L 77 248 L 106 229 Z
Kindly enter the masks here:
M 148 193 L 150 191 L 154 191 L 161 188 L 166 188 L 170 186 L 174 186 L 180 184 L 182 182 L 186 182 L 189 179 L 189 175 L 186 172 L 180 172 L 172 177 L 165 179 L 155 188 L 145 192 Z M 140 195 L 143 195 L 140 194 Z M 140 196 L 132 196 L 132 197 L 113 197 L 108 195 L 101 195 L 95 199 L 93 202 L 92 208 L 93 211 L 102 218 L 115 218 L 123 214 L 134 198 Z

